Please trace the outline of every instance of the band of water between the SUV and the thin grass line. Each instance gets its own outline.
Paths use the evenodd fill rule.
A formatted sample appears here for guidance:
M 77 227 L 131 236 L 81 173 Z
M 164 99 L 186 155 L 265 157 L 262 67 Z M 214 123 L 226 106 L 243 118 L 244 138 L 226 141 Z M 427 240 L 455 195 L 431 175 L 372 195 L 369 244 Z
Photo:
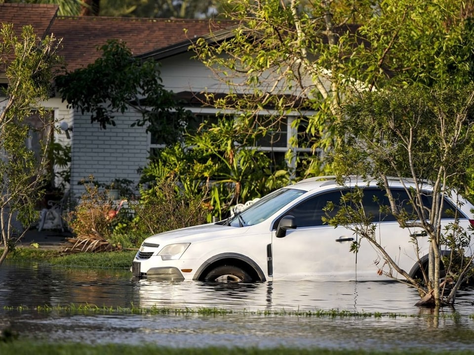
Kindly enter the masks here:
M 98 307 L 256 310 L 348 310 L 419 314 L 417 292 L 398 282 L 276 281 L 253 284 L 134 280 L 128 271 L 45 265 L 0 267 L 0 304 L 8 307 L 93 304 Z M 472 289 L 458 293 L 456 311 L 471 314 Z

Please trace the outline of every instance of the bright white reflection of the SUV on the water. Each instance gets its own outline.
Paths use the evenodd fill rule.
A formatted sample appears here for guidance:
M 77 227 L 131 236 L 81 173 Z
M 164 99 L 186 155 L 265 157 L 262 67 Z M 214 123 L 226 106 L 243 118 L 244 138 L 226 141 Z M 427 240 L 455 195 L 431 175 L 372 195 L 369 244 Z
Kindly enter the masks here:
M 417 294 L 399 283 L 277 281 L 255 284 L 140 280 L 142 307 L 232 307 L 247 310 L 349 310 L 414 313 Z

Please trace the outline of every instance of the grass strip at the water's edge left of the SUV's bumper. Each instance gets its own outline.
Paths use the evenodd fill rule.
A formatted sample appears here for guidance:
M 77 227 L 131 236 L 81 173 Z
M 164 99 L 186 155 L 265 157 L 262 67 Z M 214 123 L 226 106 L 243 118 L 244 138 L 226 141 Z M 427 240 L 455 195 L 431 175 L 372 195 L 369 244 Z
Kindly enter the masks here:
M 135 250 L 64 254 L 60 250 L 55 249 L 18 247 L 8 254 L 7 260 L 15 262 L 40 262 L 76 268 L 128 269 L 132 265 L 135 254 Z

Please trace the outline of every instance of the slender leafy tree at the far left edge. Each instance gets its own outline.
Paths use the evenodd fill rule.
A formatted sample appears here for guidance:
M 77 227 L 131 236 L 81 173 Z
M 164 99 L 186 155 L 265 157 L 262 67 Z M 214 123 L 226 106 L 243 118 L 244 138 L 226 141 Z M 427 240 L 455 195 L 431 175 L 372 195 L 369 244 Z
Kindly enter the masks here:
M 8 86 L 0 102 L 0 229 L 3 252 L 0 264 L 35 219 L 48 167 L 51 134 L 45 134 L 38 152 L 25 142 L 34 134 L 51 132 L 54 120 L 41 101 L 50 97 L 51 82 L 62 60 L 57 54 L 61 41 L 40 39 L 32 26 L 23 27 L 20 36 L 12 24 L 0 25 L 0 67 Z M 36 116 L 37 126 L 29 124 Z M 38 153 L 38 154 L 35 154 Z M 18 224 L 21 223 L 21 225 Z

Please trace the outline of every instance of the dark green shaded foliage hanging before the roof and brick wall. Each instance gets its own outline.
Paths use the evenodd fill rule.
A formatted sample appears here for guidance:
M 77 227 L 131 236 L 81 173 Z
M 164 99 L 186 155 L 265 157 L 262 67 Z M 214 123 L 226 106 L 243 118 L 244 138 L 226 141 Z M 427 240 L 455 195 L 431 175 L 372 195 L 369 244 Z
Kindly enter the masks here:
M 117 113 L 133 108 L 142 118 L 131 125 L 146 125 L 157 139 L 169 144 L 181 136 L 181 119 L 189 115 L 164 89 L 159 63 L 133 57 L 126 44 L 110 40 L 100 48 L 103 55 L 86 68 L 58 76 L 56 85 L 63 100 L 90 113 L 102 129 L 114 126 Z

